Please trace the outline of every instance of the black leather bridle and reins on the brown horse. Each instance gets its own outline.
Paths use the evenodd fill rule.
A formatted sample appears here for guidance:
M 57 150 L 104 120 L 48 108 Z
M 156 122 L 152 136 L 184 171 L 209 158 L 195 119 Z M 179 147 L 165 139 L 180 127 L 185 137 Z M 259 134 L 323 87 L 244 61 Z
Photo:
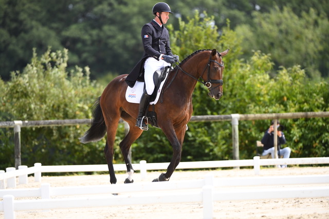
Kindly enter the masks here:
M 217 53 L 218 53 L 218 52 L 217 52 Z M 218 55 L 221 56 L 220 53 L 218 53 Z M 215 88 L 217 88 L 217 87 L 219 87 L 219 86 L 223 86 L 223 79 L 211 79 L 211 78 L 210 78 L 210 63 L 211 63 L 211 62 L 214 62 L 214 63 L 218 64 L 219 66 L 224 67 L 224 62 L 223 62 L 223 64 L 221 64 L 221 63 L 218 63 L 218 62 L 215 61 L 215 60 L 212 60 L 212 59 L 211 59 L 211 54 L 210 54 L 210 56 L 209 56 L 209 60 L 208 60 L 208 63 L 207 63 L 207 65 L 206 65 L 204 71 L 202 72 L 201 76 L 199 76 L 199 78 L 201 78 L 202 81 L 201 81 L 199 78 L 196 78 L 196 77 L 194 77 L 193 75 L 189 74 L 188 72 L 184 71 L 179 65 L 177 65 L 176 63 L 174 63 L 174 64 L 177 66 L 176 75 L 177 75 L 177 72 L 178 72 L 178 69 L 179 69 L 179 70 L 181 70 L 182 72 L 184 72 L 185 74 L 187 74 L 188 76 L 190 76 L 190 77 L 192 77 L 193 79 L 195 79 L 196 81 L 198 81 L 198 82 L 202 83 L 203 85 L 205 85 L 205 86 L 211 91 L 211 90 L 213 90 L 213 89 L 215 89 Z M 207 82 L 206 82 L 206 81 L 204 81 L 204 79 L 203 79 L 203 75 L 204 75 L 204 73 L 205 73 L 207 67 L 208 67 L 208 76 L 207 76 L 208 79 L 207 79 Z M 176 75 L 175 75 L 173 78 L 175 78 Z M 171 84 L 171 83 L 170 83 L 170 84 Z M 169 84 L 169 85 L 170 85 L 170 84 Z M 218 85 L 217 85 L 216 87 L 212 87 L 212 84 L 218 84 Z M 168 87 L 169 87 L 169 86 L 168 86 Z

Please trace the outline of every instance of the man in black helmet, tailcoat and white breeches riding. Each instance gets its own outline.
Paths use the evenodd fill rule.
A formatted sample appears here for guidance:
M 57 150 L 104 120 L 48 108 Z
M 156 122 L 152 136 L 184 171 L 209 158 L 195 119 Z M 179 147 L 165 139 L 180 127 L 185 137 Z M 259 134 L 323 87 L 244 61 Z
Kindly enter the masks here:
M 171 12 L 167 3 L 160 2 L 153 6 L 152 13 L 154 19 L 150 23 L 145 24 L 141 30 L 144 47 L 143 57 L 125 79 L 125 82 L 130 87 L 133 87 L 140 73 L 144 72 L 145 90 L 140 99 L 136 122 L 136 126 L 142 130 L 148 129 L 147 124 L 143 121 L 143 117 L 149 106 L 150 95 L 155 88 L 153 81 L 154 72 L 179 61 L 178 56 L 173 55 L 171 52 L 169 32 L 164 26 L 169 19 L 169 14 L 173 12 Z

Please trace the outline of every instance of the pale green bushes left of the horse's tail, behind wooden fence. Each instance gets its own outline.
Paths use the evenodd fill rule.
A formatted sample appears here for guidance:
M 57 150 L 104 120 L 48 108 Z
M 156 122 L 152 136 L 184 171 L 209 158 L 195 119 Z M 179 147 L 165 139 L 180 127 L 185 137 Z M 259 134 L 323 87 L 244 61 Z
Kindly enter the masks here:
M 0 80 L 1 121 L 64 120 L 90 118 L 93 99 L 102 88 L 89 78 L 89 68 L 66 71 L 68 51 L 51 52 L 41 57 L 33 51 L 31 63 L 22 73 L 12 72 L 11 81 Z M 22 128 L 22 163 L 43 165 L 103 163 L 104 141 L 83 145 L 78 137 L 87 126 Z M 13 166 L 13 132 L 0 131 L 0 169 Z M 11 155 L 9 155 L 11 154 Z M 9 159 L 10 157 L 10 159 Z M 9 165 L 10 164 L 10 165 Z

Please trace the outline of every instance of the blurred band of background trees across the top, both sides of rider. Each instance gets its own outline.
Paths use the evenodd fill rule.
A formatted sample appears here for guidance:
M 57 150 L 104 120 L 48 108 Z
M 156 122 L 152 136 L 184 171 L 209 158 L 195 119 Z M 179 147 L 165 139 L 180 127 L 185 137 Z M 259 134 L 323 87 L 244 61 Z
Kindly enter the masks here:
M 128 73 L 143 53 L 140 29 L 153 19 L 151 10 L 155 3 L 152 0 L 0 0 L 0 75 L 8 81 L 11 71 L 22 71 L 29 63 L 32 48 L 44 53 L 48 46 L 54 50 L 68 49 L 67 68 L 89 66 L 92 78 Z M 193 18 L 195 11 L 200 17 L 207 14 L 212 17 L 210 25 L 220 27 L 218 32 L 224 31 L 222 27 L 229 20 L 230 28 L 245 37 L 241 41 L 242 51 L 246 53 L 243 58 L 248 59 L 251 50 L 261 50 L 272 54 L 274 70 L 280 65 L 301 65 L 309 68 L 307 74 L 328 76 L 329 4 L 326 0 L 168 0 L 167 3 L 174 12 L 168 25 L 175 29 L 180 27 L 179 22 L 187 23 Z

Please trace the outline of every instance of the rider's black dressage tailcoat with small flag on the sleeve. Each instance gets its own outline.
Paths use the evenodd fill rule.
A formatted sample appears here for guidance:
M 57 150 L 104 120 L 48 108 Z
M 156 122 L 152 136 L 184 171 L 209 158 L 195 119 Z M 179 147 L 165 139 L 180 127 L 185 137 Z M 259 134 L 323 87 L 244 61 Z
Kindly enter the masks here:
M 144 54 L 134 69 L 126 77 L 125 82 L 133 87 L 140 73 L 144 72 L 144 62 L 148 57 L 159 60 L 161 54 L 173 55 L 170 49 L 169 32 L 162 25 L 160 27 L 154 20 L 142 27 L 141 37 Z

